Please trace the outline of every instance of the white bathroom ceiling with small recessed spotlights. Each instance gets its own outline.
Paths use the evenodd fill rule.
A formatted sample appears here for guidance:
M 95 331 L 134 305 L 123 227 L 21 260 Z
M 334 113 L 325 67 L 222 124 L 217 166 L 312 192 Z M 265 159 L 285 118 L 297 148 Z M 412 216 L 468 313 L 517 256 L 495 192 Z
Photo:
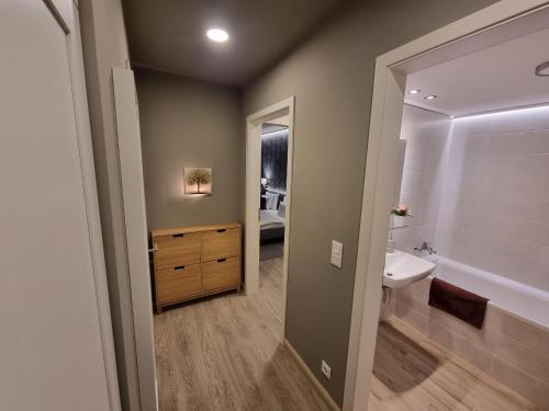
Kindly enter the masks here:
M 422 93 L 405 102 L 455 116 L 549 103 L 549 77 L 534 72 L 549 60 L 548 45 L 546 28 L 411 73 L 406 90 Z

